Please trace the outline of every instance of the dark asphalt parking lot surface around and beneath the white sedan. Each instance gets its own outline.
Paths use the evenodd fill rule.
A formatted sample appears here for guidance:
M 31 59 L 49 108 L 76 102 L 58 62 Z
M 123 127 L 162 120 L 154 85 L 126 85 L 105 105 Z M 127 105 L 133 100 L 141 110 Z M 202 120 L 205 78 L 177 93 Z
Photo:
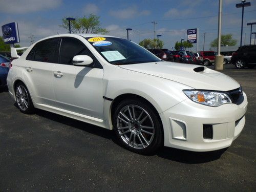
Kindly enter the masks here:
M 229 148 L 207 153 L 134 154 L 112 131 L 41 110 L 22 114 L 1 89 L 0 191 L 254 191 L 256 68 L 226 65 L 223 73 L 247 94 L 246 124 Z

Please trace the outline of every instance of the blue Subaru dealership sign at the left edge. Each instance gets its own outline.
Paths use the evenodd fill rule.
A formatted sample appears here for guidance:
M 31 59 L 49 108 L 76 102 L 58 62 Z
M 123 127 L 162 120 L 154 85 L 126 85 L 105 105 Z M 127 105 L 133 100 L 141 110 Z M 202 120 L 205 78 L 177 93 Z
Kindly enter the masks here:
M 16 44 L 17 42 L 19 42 L 17 22 L 3 25 L 2 32 L 5 44 Z

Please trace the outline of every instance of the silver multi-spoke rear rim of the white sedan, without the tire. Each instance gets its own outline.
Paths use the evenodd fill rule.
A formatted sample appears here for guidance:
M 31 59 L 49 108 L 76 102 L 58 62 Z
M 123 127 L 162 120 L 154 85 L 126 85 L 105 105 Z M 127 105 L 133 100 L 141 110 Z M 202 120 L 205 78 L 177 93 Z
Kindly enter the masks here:
M 19 108 L 26 111 L 29 107 L 29 96 L 26 88 L 20 84 L 16 88 L 16 100 Z

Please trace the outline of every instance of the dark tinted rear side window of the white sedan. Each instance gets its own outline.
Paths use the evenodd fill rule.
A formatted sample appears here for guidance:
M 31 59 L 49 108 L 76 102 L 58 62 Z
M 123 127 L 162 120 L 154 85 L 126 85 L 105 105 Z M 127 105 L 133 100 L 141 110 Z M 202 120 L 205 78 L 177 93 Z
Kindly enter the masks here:
M 34 59 L 35 61 L 41 62 L 58 62 L 58 38 L 48 39 L 39 42 L 36 45 Z M 33 54 L 31 50 L 31 55 Z M 30 53 L 29 53 L 30 55 Z M 29 56 L 28 55 L 28 56 Z

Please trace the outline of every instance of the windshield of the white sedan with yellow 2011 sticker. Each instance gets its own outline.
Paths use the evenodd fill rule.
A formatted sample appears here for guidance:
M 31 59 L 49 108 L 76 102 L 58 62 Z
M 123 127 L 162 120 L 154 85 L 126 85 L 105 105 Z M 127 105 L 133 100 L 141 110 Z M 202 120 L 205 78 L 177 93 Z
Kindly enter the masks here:
M 116 37 L 88 37 L 88 42 L 104 59 L 114 65 L 161 61 L 134 42 Z

